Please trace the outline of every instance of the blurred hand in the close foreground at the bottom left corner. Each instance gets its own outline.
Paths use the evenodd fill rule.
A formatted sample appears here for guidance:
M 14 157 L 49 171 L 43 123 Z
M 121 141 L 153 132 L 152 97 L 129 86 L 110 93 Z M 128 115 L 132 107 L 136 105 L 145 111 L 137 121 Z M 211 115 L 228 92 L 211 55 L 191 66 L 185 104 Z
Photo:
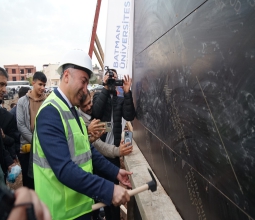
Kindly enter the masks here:
M 8 220 L 26 220 L 27 212 L 26 209 L 29 208 L 25 203 L 31 203 L 34 206 L 34 212 L 36 219 L 38 220 L 50 220 L 50 212 L 46 205 L 41 202 L 33 190 L 29 190 L 26 187 L 21 187 L 15 191 L 15 205 L 8 217 Z M 22 205 L 24 204 L 24 205 Z M 19 206 L 20 205 L 20 206 Z

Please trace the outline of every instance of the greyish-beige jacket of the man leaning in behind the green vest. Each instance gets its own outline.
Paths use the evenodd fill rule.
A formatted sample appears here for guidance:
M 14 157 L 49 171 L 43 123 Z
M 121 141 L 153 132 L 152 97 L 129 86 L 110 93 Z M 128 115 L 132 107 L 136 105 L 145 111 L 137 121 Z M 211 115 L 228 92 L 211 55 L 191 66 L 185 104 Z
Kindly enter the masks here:
M 86 126 L 88 127 L 90 121 L 87 119 L 86 115 L 79 109 L 81 117 L 83 118 Z M 120 156 L 119 148 L 103 142 L 100 138 L 98 138 L 95 142 L 92 143 L 93 146 L 105 157 L 115 158 Z

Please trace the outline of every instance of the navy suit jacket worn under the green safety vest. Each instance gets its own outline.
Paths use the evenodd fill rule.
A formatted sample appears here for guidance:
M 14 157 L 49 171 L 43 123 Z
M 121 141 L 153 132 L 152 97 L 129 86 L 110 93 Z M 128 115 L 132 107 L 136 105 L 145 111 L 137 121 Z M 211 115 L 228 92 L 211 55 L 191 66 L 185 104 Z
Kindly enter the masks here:
M 55 94 L 68 106 L 61 94 Z M 84 172 L 71 159 L 64 133 L 64 127 L 56 108 L 46 106 L 37 116 L 36 129 L 42 150 L 58 180 L 64 185 L 107 205 L 112 202 L 114 184 L 99 176 Z M 114 181 L 119 168 L 107 161 L 92 145 L 93 168 L 101 170 Z M 90 219 L 85 215 L 81 219 Z

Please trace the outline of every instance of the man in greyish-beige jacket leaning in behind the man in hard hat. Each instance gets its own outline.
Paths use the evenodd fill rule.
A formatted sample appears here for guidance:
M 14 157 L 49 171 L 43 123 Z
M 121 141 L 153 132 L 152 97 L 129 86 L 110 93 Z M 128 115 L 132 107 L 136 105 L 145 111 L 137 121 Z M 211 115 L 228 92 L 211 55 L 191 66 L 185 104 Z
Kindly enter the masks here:
M 81 99 L 81 104 L 79 107 L 79 111 L 81 113 L 81 117 L 84 120 L 86 126 L 88 127 L 88 133 L 90 134 L 90 142 L 94 145 L 94 147 L 104 156 L 115 158 L 120 156 L 128 155 L 132 152 L 133 146 L 129 145 L 129 143 L 124 144 L 124 141 L 120 142 L 120 146 L 116 147 L 113 144 L 107 144 L 100 139 L 101 133 L 98 131 L 98 126 L 100 126 L 99 119 L 91 120 L 92 115 L 92 100 L 90 96 L 90 91 L 88 90 L 87 95 L 84 95 Z M 99 135 L 97 135 L 99 133 Z

